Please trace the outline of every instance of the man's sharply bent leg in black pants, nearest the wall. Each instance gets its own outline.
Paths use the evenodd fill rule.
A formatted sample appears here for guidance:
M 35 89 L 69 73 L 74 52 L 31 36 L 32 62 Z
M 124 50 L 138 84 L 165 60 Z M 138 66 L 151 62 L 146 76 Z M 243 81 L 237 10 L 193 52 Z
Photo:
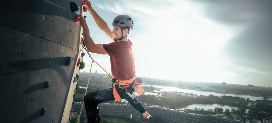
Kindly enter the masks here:
M 85 110 L 88 117 L 88 123 L 98 123 L 100 121 L 98 104 L 107 101 L 113 101 L 113 88 L 90 92 L 84 97 Z

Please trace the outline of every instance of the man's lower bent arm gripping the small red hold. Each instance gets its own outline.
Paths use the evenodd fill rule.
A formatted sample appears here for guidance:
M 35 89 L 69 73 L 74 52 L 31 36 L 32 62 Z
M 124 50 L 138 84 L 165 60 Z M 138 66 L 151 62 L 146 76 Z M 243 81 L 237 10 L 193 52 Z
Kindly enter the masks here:
M 86 23 L 86 19 L 82 15 L 77 14 L 76 18 L 79 19 L 80 25 L 83 28 L 83 37 L 86 49 L 88 52 L 98 53 L 98 54 L 108 54 L 104 49 L 103 44 L 95 44 L 94 40 L 90 35 L 90 30 Z

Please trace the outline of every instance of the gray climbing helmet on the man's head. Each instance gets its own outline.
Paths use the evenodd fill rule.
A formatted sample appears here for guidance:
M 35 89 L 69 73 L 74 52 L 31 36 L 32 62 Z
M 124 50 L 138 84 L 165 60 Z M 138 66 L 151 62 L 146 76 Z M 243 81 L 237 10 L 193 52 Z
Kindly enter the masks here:
M 112 26 L 130 27 L 133 29 L 133 19 L 128 15 L 118 15 L 113 19 Z

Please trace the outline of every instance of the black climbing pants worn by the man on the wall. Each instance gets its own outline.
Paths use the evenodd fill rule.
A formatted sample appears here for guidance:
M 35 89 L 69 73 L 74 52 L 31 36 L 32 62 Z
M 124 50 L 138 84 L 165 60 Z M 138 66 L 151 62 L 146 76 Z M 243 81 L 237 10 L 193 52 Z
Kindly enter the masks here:
M 134 101 L 137 102 L 136 101 L 137 99 L 134 98 L 134 100 L 132 100 L 132 98 L 125 93 L 126 92 L 125 88 L 121 89 L 117 85 L 115 85 L 115 88 L 118 94 L 120 95 L 121 99 L 127 100 L 132 105 L 132 107 L 138 110 L 139 112 L 141 113 L 145 112 L 145 108 L 144 106 L 142 106 L 141 102 L 139 101 L 138 104 L 134 104 Z M 135 91 L 135 89 L 132 87 L 127 88 L 127 90 L 131 95 Z M 98 104 L 113 100 L 115 100 L 113 96 L 113 88 L 88 93 L 84 97 L 84 105 L 88 117 L 88 123 L 98 123 L 100 121 L 101 118 L 99 116 L 99 109 L 97 107 Z

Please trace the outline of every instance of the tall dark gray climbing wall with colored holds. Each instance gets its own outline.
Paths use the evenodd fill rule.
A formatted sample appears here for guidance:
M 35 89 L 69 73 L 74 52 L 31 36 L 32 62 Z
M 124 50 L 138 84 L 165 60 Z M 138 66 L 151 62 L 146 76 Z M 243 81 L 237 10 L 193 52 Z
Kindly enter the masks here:
M 0 6 L 0 122 L 68 122 L 82 67 L 82 29 L 75 22 L 84 13 L 82 0 L 6 0 Z

